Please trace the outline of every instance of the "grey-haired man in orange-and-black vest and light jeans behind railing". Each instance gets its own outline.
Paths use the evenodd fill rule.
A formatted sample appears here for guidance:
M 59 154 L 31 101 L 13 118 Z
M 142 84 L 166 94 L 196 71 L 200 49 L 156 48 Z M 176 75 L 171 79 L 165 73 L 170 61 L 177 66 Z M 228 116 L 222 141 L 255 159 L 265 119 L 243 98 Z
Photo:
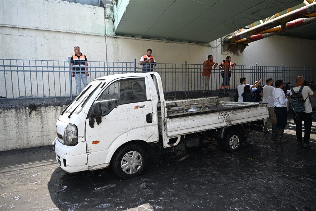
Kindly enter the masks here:
M 76 86 L 78 90 L 78 94 L 82 91 L 81 88 L 81 80 L 86 87 L 88 85 L 87 77 L 88 73 L 88 59 L 86 55 L 80 53 L 80 47 L 74 47 L 75 54 L 71 56 L 70 65 L 71 65 L 71 77 L 75 77 Z

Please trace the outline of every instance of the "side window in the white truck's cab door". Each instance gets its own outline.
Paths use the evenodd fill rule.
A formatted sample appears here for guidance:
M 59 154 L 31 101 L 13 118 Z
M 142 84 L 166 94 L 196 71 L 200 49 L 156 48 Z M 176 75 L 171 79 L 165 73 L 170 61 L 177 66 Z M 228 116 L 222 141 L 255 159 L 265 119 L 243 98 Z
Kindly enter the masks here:
M 107 115 L 117 105 L 146 101 L 145 78 L 129 78 L 110 84 L 97 99 L 102 115 Z

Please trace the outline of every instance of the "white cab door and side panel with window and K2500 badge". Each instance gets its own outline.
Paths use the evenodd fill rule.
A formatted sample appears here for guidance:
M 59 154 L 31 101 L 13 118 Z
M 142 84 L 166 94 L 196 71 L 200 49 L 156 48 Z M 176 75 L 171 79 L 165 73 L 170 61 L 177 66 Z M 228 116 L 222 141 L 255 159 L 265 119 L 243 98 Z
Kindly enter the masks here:
M 86 141 L 89 169 L 104 166 L 110 149 L 127 141 L 148 141 L 155 132 L 153 106 L 147 77 L 118 79 L 97 97 L 102 108 L 101 123 L 89 126 Z

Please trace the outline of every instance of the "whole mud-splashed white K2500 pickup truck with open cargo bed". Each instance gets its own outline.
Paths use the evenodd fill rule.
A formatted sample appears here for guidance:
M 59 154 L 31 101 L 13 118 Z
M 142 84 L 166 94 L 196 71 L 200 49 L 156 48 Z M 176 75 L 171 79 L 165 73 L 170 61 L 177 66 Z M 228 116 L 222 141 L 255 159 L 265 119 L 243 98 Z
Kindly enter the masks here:
M 56 123 L 53 141 L 67 172 L 112 165 L 122 178 L 143 173 L 147 158 L 174 146 L 197 146 L 204 136 L 234 152 L 246 129 L 262 131 L 267 104 L 219 102 L 218 97 L 166 101 L 157 72 L 109 75 L 93 80 Z

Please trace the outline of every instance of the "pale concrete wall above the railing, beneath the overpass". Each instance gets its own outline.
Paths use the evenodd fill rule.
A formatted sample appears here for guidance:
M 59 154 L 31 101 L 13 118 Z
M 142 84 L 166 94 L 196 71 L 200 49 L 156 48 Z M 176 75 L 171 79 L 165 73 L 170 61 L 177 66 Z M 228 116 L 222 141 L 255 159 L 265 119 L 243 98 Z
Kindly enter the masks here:
M 210 47 L 106 36 L 105 29 L 113 26 L 105 24 L 104 13 L 101 7 L 57 0 L 2 0 L 0 58 L 67 60 L 75 45 L 90 61 L 138 61 L 147 48 L 160 63 L 201 64 L 209 54 L 217 62 L 227 56 L 221 53 L 221 39 Z M 315 67 L 315 54 L 315 40 L 272 36 L 250 43 L 243 56 L 232 60 L 239 65 Z

